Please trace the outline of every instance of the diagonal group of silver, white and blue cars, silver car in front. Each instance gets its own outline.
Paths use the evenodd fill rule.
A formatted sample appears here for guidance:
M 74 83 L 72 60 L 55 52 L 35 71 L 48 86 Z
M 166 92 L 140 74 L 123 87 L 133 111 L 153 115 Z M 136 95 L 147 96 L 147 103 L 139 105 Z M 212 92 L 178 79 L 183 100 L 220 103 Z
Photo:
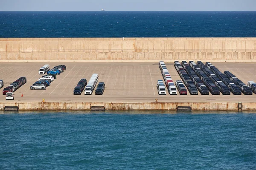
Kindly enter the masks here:
M 44 75 L 38 79 L 32 86 L 30 86 L 31 90 L 40 89 L 45 90 L 54 79 L 57 78 L 56 73 L 60 74 L 66 69 L 65 65 L 58 65 L 54 67 L 54 71 L 48 71 L 47 75 Z M 40 70 L 39 70 L 40 71 Z M 52 73 L 54 72 L 54 74 Z

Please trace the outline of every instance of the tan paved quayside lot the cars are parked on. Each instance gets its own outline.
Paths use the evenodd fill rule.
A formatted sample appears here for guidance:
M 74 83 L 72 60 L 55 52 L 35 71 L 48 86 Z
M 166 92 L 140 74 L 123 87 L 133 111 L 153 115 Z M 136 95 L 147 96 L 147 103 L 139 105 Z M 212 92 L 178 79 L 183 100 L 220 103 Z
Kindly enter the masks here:
M 51 68 L 64 64 L 67 69 L 46 90 L 30 90 L 30 86 L 42 76 L 38 70 L 44 64 L 49 64 Z M 248 80 L 256 81 L 255 63 L 212 64 L 221 72 L 230 71 L 245 84 Z M 166 63 L 166 66 L 174 81 L 180 79 L 173 63 Z M 27 78 L 27 83 L 15 91 L 16 102 L 40 102 L 42 99 L 46 102 L 154 102 L 155 99 L 160 102 L 256 102 L 256 94 L 160 96 L 156 82 L 163 77 L 156 62 L 0 62 L 0 71 L 0 79 L 4 80 L 5 87 L 21 76 Z M 73 95 L 77 82 L 81 78 L 89 81 L 93 73 L 99 74 L 99 82 L 105 82 L 104 94 L 95 95 L 93 91 L 92 95 Z M 21 97 L 21 94 L 24 96 Z M 5 101 L 5 95 L 0 96 L 0 101 Z

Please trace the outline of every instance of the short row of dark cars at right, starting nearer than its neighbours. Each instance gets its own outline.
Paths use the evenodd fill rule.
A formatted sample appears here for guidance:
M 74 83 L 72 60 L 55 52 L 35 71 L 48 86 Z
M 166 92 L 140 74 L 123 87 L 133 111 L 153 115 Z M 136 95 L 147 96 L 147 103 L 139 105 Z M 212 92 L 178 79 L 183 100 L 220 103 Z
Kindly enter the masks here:
M 241 89 L 241 92 L 245 95 L 253 95 L 253 91 L 249 88 L 244 82 L 242 82 L 239 78 L 237 78 L 234 74 L 229 71 L 224 71 L 224 75 L 227 76 L 233 83 L 237 85 Z M 234 85 L 231 85 L 234 86 Z

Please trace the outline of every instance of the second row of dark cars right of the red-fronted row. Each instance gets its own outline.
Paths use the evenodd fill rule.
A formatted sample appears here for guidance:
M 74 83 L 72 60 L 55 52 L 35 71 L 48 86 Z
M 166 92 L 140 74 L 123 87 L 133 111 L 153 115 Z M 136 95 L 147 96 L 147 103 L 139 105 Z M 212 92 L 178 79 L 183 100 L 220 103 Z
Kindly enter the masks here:
M 193 69 L 189 66 L 189 64 L 186 61 L 182 61 L 182 66 L 189 75 L 189 77 L 194 82 L 196 88 L 202 95 L 208 95 L 209 90 L 207 89 L 206 85 L 202 82 L 202 80 L 198 77 L 198 75 L 193 71 Z

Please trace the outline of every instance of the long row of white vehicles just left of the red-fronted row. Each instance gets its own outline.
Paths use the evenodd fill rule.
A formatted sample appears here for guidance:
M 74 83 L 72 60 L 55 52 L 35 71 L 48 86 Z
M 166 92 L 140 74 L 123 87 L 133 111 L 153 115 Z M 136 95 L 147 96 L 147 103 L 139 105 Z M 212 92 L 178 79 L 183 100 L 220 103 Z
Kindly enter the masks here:
M 163 76 L 163 79 L 166 83 L 166 87 L 168 89 L 168 92 L 169 94 L 177 94 L 177 89 L 175 87 L 175 84 L 172 80 L 172 77 L 168 71 L 168 69 L 166 68 L 166 65 L 163 61 L 160 61 L 159 62 L 159 68 L 162 72 L 162 76 Z M 158 91 L 159 91 L 160 88 L 158 88 Z M 158 92 L 159 93 L 159 92 Z

